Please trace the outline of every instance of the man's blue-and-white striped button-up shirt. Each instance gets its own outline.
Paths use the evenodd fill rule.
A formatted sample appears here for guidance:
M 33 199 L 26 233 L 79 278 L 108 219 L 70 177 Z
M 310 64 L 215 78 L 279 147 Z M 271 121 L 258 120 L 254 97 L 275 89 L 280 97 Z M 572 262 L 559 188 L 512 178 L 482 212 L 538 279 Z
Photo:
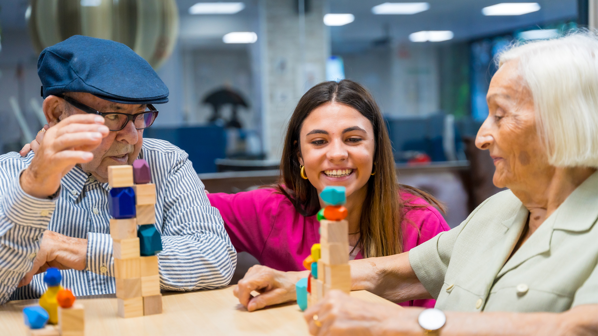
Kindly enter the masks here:
M 44 230 L 87 239 L 83 271 L 63 270 L 62 286 L 75 295 L 115 292 L 108 183 L 75 166 L 61 181 L 53 200 L 26 194 L 19 183 L 33 152 L 26 157 L 0 155 L 0 304 L 40 297 L 43 275 L 17 288 L 33 267 Z M 213 289 L 230 282 L 237 257 L 220 213 L 204 193 L 188 155 L 169 142 L 144 139 L 139 158 L 151 169 L 156 187 L 156 228 L 162 236 L 158 253 L 161 289 Z

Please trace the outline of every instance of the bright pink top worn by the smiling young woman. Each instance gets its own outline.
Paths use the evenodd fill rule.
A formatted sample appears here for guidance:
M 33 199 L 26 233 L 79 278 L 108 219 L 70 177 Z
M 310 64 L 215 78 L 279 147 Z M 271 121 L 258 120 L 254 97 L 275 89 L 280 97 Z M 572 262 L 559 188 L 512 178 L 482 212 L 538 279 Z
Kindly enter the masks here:
M 316 216 L 305 217 L 273 188 L 236 194 L 208 194 L 216 207 L 237 252 L 248 252 L 260 264 L 280 271 L 303 271 L 303 259 L 320 241 Z M 404 201 L 428 204 L 423 198 L 401 193 Z M 450 230 L 443 216 L 432 206 L 411 209 L 402 222 L 403 251 Z M 363 258 L 361 253 L 356 259 Z M 415 300 L 402 306 L 434 307 L 434 300 Z

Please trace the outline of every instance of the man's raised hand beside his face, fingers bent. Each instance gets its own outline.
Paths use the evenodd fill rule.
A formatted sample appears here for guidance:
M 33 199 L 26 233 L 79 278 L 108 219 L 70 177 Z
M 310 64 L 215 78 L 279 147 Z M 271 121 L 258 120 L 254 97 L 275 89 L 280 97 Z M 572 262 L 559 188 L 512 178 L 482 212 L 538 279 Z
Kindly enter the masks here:
M 103 123 L 104 118 L 99 115 L 75 114 L 48 128 L 41 137 L 35 157 L 20 177 L 23 191 L 38 198 L 56 193 L 60 179 L 75 164 L 93 160 L 91 151 L 109 133 Z

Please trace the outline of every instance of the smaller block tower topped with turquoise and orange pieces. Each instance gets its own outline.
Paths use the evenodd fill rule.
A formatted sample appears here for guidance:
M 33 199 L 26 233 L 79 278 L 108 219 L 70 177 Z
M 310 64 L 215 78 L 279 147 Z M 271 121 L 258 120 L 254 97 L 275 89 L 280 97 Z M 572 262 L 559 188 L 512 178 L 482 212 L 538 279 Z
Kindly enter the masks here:
M 351 291 L 349 222 L 345 220 L 347 209 L 343 206 L 345 188 L 328 186 L 320 197 L 327 204 L 318 212 L 320 243 L 312 246 L 312 254 L 303 261 L 303 265 L 311 270 L 306 293 L 297 288 L 297 302 L 300 302 L 300 295 L 306 295 L 307 300 L 301 302 L 306 302 L 307 306 L 318 303 L 331 289 L 340 289 L 347 294 Z

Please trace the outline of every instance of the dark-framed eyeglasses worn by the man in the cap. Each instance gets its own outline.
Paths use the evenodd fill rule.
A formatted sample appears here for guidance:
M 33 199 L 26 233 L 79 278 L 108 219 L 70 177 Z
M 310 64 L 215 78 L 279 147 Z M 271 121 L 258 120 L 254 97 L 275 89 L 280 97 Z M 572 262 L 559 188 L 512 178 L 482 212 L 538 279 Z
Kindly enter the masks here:
M 139 112 L 136 114 L 118 112 L 103 113 L 100 111 L 96 111 L 95 109 L 90 108 L 89 106 L 83 103 L 77 102 L 77 100 L 72 99 L 71 97 L 67 97 L 64 94 L 60 94 L 59 97 L 83 112 L 101 115 L 102 117 L 104 117 L 104 124 L 111 131 L 120 131 L 121 129 L 124 129 L 124 127 L 127 126 L 129 121 L 133 121 L 135 129 L 147 129 L 149 126 L 151 126 L 151 124 L 154 123 L 155 118 L 158 117 L 158 110 L 155 109 L 154 105 L 151 104 L 147 105 L 149 111 Z

